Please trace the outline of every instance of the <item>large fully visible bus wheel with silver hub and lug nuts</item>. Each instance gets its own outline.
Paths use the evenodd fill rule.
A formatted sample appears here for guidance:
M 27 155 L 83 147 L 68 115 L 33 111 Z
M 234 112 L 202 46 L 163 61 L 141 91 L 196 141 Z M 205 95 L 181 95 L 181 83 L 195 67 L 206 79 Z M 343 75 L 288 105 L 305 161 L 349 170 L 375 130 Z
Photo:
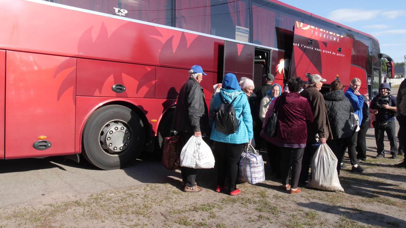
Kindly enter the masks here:
M 144 140 L 144 125 L 136 112 L 122 105 L 107 105 L 86 122 L 83 155 L 103 170 L 124 168 L 140 155 Z

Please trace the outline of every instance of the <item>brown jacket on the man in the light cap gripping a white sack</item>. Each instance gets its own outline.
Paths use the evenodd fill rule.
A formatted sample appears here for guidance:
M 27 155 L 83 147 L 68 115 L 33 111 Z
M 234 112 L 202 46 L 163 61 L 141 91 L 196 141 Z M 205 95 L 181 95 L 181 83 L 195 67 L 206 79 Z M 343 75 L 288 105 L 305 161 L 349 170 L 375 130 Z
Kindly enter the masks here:
M 307 124 L 307 142 L 316 142 L 315 136 L 320 138 L 333 139 L 330 123 L 328 122 L 326 101 L 319 90 L 313 86 L 305 88 L 300 95 L 309 101 L 313 111 L 313 123 Z

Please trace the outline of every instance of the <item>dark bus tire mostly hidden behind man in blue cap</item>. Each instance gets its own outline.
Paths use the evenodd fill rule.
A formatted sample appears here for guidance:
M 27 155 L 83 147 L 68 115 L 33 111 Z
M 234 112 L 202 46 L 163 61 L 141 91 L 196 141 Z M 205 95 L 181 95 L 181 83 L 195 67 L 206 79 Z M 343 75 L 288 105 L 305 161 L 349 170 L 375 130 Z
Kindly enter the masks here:
M 165 112 L 164 116 L 158 126 L 157 136 L 155 140 L 155 156 L 157 159 L 161 159 L 164 150 L 165 138 L 171 136 L 172 120 L 175 114 L 175 107 L 169 108 Z

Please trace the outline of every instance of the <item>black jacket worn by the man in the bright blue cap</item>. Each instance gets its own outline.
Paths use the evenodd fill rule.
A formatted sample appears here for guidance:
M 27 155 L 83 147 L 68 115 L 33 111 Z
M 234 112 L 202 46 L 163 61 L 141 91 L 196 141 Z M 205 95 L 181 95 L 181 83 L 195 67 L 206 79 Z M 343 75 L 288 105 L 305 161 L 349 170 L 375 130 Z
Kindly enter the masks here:
M 194 78 L 183 84 L 179 91 L 172 130 L 209 133 L 209 116 L 203 88 Z

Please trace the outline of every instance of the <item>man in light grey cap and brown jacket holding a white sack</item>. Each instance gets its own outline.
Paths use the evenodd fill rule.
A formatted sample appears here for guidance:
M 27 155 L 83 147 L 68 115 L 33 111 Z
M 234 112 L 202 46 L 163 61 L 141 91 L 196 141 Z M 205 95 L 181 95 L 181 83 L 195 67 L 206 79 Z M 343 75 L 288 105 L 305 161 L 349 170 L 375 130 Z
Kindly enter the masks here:
M 328 122 L 326 101 L 324 101 L 324 97 L 320 92 L 323 82 L 326 82 L 326 80 L 320 75 L 312 74 L 309 76 L 309 86 L 300 93 L 302 97 L 309 101 L 313 112 L 313 123 L 307 124 L 307 142 L 302 159 L 302 171 L 300 172 L 299 178 L 300 184 L 304 184 L 307 181 L 310 160 L 317 148 L 319 148 L 320 144 L 326 143 L 327 139 L 333 138 L 330 123 Z

